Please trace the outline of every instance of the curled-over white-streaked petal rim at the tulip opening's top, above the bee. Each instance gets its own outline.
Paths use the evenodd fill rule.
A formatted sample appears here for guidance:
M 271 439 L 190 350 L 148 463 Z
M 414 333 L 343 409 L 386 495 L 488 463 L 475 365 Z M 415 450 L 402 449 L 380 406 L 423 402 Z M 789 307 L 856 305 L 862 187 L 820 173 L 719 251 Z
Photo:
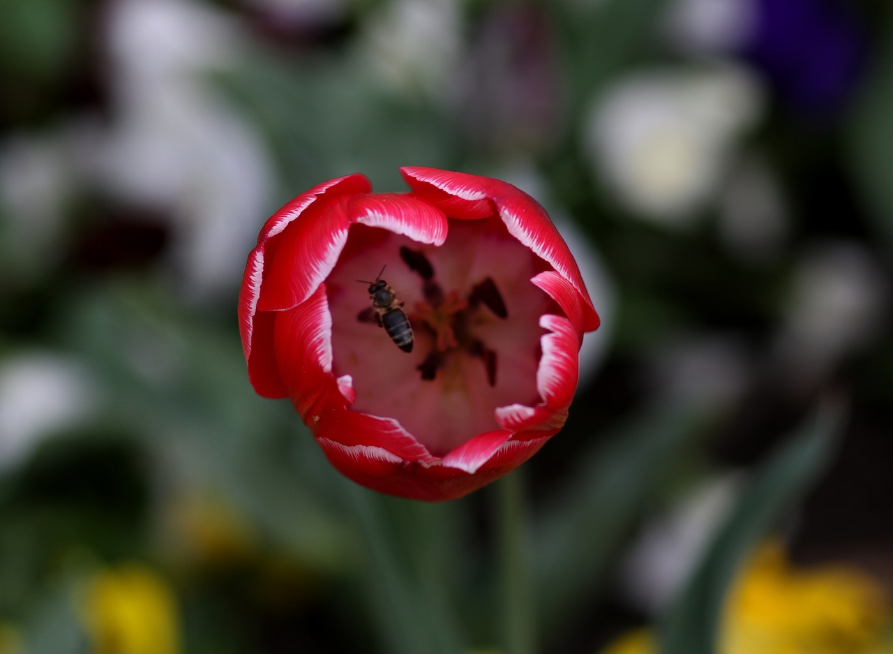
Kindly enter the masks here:
M 383 227 L 420 243 L 440 246 L 447 239 L 447 216 L 415 197 L 396 193 L 356 196 L 348 212 L 352 221 Z

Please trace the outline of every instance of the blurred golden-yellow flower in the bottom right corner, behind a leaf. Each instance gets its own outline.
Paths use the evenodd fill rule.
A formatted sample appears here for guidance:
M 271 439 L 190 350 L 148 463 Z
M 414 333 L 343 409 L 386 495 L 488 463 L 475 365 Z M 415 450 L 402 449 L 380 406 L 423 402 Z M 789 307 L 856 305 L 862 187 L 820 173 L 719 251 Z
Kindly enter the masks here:
M 893 654 L 884 591 L 850 566 L 790 566 L 780 543 L 758 549 L 726 599 L 720 654 Z M 602 654 L 653 654 L 647 629 Z

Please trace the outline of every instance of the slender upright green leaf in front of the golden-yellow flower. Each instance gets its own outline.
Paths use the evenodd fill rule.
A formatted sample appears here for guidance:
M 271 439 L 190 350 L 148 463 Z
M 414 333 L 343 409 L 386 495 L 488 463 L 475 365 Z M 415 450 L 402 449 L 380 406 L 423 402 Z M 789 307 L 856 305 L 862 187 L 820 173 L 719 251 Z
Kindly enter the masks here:
M 714 654 L 722 601 L 742 559 L 800 499 L 827 465 L 839 432 L 838 403 L 818 415 L 760 467 L 664 616 L 661 654 Z

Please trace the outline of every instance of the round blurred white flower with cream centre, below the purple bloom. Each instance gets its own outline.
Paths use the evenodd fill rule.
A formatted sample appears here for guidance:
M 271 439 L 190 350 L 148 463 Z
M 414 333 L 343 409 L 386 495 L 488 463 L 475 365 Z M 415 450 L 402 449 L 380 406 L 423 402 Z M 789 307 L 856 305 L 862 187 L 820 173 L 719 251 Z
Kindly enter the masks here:
M 730 64 L 643 71 L 597 98 L 586 146 L 630 210 L 663 224 L 691 222 L 762 105 L 755 79 Z

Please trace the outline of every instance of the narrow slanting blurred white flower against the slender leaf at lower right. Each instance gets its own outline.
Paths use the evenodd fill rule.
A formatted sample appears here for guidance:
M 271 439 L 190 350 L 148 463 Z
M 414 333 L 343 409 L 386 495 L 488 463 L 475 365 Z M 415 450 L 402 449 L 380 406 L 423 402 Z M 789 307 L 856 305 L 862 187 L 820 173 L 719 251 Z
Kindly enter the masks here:
M 675 597 L 741 482 L 739 474 L 708 480 L 647 524 L 622 566 L 623 590 L 638 607 L 656 616 Z

